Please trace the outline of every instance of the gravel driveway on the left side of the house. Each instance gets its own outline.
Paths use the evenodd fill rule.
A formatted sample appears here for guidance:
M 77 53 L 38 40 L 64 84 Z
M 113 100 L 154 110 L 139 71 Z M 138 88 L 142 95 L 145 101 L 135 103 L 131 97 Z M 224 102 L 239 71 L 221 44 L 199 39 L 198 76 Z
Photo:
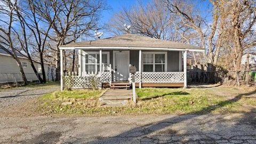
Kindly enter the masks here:
M 59 86 L 41 87 L 16 87 L 13 89 L 0 90 L 0 109 L 15 106 L 36 98 L 39 95 L 50 93 L 59 89 Z

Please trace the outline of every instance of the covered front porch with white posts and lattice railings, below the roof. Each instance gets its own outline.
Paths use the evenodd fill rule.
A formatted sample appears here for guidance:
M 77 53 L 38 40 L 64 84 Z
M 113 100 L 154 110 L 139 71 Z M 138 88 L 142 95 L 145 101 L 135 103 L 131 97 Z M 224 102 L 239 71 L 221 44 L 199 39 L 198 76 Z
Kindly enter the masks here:
M 138 61 L 136 60 L 136 55 L 131 55 L 131 57 L 135 57 L 133 59 L 130 57 L 130 54 L 137 53 L 137 51 L 139 53 Z M 99 78 L 101 83 L 99 84 L 99 87 L 102 87 L 102 85 L 110 86 L 113 83 L 131 83 L 131 73 L 129 73 L 130 65 L 135 65 L 137 67 L 137 72 L 135 73 L 135 85 L 139 88 L 187 87 L 187 51 L 170 51 L 170 54 L 167 54 L 167 51 L 103 51 L 102 49 L 99 49 L 98 51 L 88 51 L 81 49 L 78 50 L 78 53 L 79 68 L 78 74 L 73 74 L 73 89 L 90 88 L 90 76 Z M 172 61 L 172 59 L 169 58 L 168 60 L 168 56 L 175 56 L 175 54 L 178 54 L 179 59 L 176 62 L 170 63 L 169 61 Z M 156 61 L 158 61 L 156 60 L 156 57 L 160 57 L 161 55 L 163 57 L 162 60 L 161 58 L 158 58 L 161 63 L 156 63 Z M 151 59 L 151 57 L 153 59 Z M 86 66 L 88 61 L 93 62 L 89 62 L 90 65 L 88 64 L 88 66 Z M 89 67 L 93 68 L 89 69 Z M 170 71 L 172 69 L 173 71 Z M 67 77 L 68 75 L 62 74 L 62 77 L 65 76 Z M 62 86 L 64 85 L 65 84 L 63 83 Z

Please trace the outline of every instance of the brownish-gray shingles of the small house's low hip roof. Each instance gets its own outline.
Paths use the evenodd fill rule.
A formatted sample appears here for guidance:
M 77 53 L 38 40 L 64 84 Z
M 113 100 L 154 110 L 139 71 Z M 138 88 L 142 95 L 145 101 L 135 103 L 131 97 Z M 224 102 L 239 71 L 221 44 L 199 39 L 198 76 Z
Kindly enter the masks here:
M 202 49 L 202 47 L 189 44 L 164 41 L 161 39 L 138 36 L 134 34 L 124 34 L 109 38 L 97 39 L 80 43 L 70 43 L 61 47 L 150 47 L 168 49 Z

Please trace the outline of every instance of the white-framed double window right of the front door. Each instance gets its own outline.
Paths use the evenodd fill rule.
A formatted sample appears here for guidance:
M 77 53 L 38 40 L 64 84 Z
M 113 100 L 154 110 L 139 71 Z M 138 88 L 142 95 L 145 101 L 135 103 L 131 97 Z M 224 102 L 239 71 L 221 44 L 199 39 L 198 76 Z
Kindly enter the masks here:
M 167 71 L 167 52 L 143 52 L 143 72 Z

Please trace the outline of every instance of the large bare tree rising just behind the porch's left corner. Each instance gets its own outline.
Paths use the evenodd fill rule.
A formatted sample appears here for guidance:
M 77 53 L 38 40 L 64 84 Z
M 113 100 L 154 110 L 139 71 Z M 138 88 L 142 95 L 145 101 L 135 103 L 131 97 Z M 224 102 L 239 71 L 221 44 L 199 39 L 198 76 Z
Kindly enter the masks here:
M 45 0 L 46 3 L 52 3 L 50 0 Z M 60 52 L 59 46 L 75 42 L 80 36 L 91 36 L 90 30 L 98 29 L 99 13 L 105 10 L 104 1 L 83 1 L 83 0 L 63 0 L 58 1 L 56 6 L 51 7 L 53 13 L 56 14 L 56 19 L 52 19 L 53 13 L 45 12 L 49 6 L 40 5 L 38 1 L 36 9 L 40 15 L 48 23 L 52 22 L 52 31 L 47 37 L 53 43 L 47 43 L 54 55 L 56 67 L 56 80 L 60 79 Z M 45 33 L 46 35 L 46 33 Z

